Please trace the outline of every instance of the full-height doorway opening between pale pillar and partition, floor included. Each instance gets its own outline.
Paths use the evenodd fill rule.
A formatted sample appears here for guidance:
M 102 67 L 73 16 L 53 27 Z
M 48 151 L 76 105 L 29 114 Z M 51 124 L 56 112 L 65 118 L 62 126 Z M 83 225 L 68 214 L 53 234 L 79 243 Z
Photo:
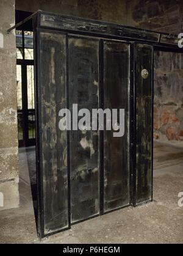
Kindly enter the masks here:
M 16 10 L 16 23 L 19 23 L 31 14 L 30 12 Z M 29 207 L 30 213 L 35 214 L 35 218 L 37 218 L 34 34 L 32 22 L 25 23 L 16 29 L 16 86 L 18 152 L 20 159 L 20 204 L 23 207 Z

